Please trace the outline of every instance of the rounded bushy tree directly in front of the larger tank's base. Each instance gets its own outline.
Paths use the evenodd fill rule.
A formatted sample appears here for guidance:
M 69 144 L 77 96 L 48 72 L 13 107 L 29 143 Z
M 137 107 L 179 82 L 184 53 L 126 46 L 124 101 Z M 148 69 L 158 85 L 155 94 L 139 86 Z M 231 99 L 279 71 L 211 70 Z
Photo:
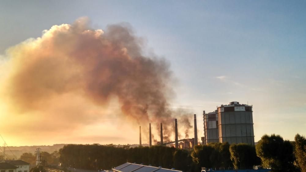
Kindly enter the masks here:
M 255 146 L 244 143 L 230 145 L 230 157 L 235 169 L 252 169 L 260 163 Z

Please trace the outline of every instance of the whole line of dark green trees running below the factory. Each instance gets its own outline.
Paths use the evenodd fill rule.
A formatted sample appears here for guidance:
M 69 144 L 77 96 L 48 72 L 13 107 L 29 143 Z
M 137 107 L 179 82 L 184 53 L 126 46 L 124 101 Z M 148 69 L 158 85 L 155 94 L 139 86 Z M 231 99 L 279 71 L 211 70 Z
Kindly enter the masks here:
M 306 172 L 306 138 L 299 134 L 294 141 L 286 141 L 275 134 L 263 135 L 256 146 L 225 142 L 182 150 L 166 146 L 65 145 L 57 153 L 59 159 L 50 154 L 53 155 L 49 158 L 50 162 L 59 161 L 64 168 L 89 170 L 111 169 L 129 162 L 190 172 L 198 172 L 201 167 L 252 169 L 254 165 L 271 167 L 275 172 Z M 24 161 L 27 161 L 26 158 L 28 156 L 21 156 Z

